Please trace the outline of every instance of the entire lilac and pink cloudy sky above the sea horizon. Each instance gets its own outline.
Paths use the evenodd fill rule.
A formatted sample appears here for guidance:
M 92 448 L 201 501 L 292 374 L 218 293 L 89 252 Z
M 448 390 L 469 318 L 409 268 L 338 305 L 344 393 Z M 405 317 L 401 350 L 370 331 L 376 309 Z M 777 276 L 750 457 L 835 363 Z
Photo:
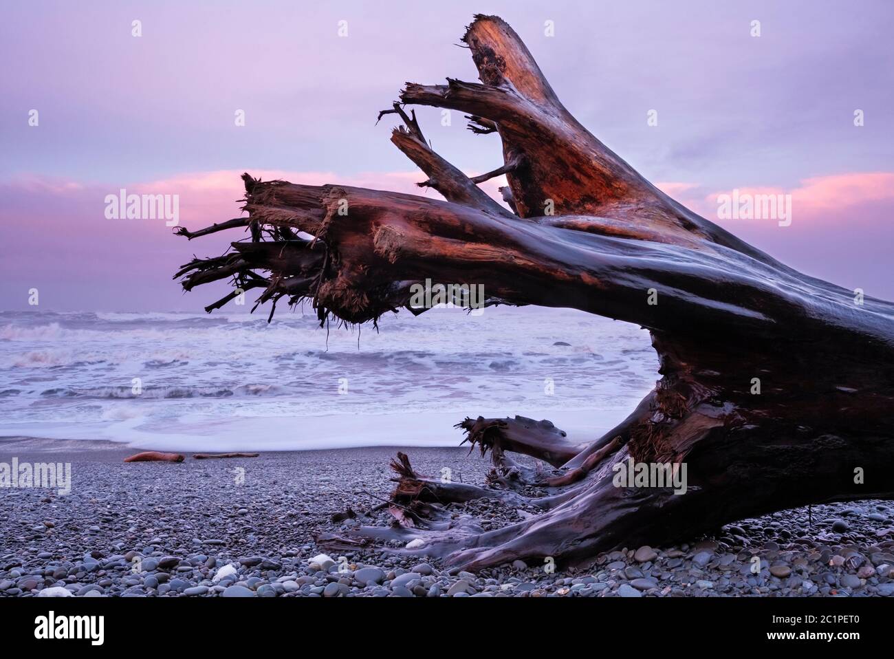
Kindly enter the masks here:
M 177 195 L 190 228 L 240 215 L 244 171 L 420 193 L 393 117 L 375 116 L 405 80 L 477 80 L 456 46 L 475 13 L 508 21 L 569 111 L 672 197 L 805 273 L 894 299 L 887 0 L 318 5 L 4 3 L 0 310 L 34 310 L 32 289 L 53 311 L 198 312 L 220 297 L 171 275 L 235 238 L 107 218 L 121 189 Z M 463 171 L 502 165 L 499 138 L 460 113 L 417 114 Z M 721 219 L 732 190 L 789 195 L 791 223 Z

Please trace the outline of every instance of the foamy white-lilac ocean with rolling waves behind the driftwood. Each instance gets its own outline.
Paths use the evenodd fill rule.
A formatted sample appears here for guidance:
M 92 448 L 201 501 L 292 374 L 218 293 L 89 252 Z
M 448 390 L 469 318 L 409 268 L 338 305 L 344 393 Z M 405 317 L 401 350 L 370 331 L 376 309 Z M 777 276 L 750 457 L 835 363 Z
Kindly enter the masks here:
M 0 436 L 171 451 L 452 446 L 463 418 L 581 441 L 658 379 L 645 330 L 572 309 L 434 308 L 318 326 L 312 309 L 0 312 Z

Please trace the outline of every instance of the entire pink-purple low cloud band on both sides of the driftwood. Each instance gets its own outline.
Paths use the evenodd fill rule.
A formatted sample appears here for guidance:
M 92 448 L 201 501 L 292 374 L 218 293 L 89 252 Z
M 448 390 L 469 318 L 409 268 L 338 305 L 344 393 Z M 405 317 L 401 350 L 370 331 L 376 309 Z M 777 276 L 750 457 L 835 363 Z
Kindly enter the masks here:
M 171 275 L 200 256 L 220 254 L 238 232 L 208 236 L 201 244 L 171 234 L 163 220 L 110 220 L 105 195 L 125 188 L 133 193 L 177 194 L 180 224 L 192 229 L 240 215 L 242 171 L 182 173 L 152 182 L 109 184 L 19 176 L 0 183 L 6 203 L 0 221 L 16 227 L 18 248 L 7 255 L 7 275 L 0 293 L 9 304 L 25 304 L 23 291 L 37 286 L 48 308 L 196 310 L 215 299 L 215 291 L 183 297 Z M 331 172 L 250 170 L 264 180 L 308 184 L 341 183 L 396 190 L 440 199 L 418 188 L 423 173 L 369 172 L 339 176 Z M 499 199 L 501 179 L 486 182 Z M 717 221 L 715 195 L 691 182 L 659 184 L 672 197 Z M 792 195 L 794 223 L 717 221 L 742 239 L 812 275 L 861 286 L 870 294 L 890 297 L 888 246 L 894 240 L 894 173 L 846 173 L 806 179 L 796 188 L 743 188 L 740 192 Z M 221 283 L 220 294 L 225 290 Z M 219 295 L 217 296 L 219 297 Z

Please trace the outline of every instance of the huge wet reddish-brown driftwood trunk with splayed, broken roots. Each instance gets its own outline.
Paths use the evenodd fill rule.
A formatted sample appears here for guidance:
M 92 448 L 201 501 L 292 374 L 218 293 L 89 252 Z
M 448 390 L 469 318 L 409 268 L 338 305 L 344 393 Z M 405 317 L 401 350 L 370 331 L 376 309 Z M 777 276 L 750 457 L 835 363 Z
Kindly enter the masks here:
M 403 551 L 467 570 L 575 562 L 783 508 L 890 497 L 894 305 L 857 303 L 657 190 L 569 114 L 501 19 L 477 16 L 463 41 L 480 82 L 408 83 L 379 115 L 401 119 L 392 142 L 426 173 L 419 185 L 445 201 L 246 174 L 247 217 L 178 232 L 191 240 L 242 228 L 247 237 L 175 276 L 186 290 L 232 281 L 237 290 L 209 312 L 258 289 L 271 317 L 278 300 L 309 300 L 321 324 L 409 308 L 410 286 L 426 278 L 484 284 L 486 304 L 577 308 L 648 328 L 662 378 L 602 437 L 570 438 L 523 417 L 467 418 L 468 442 L 492 454 L 488 486 L 420 477 L 401 455 L 395 527 L 360 528 L 343 542 L 399 539 Z M 429 147 L 405 109 L 414 105 L 467 113 L 472 131 L 502 139 L 503 165 L 461 173 Z M 477 185 L 501 173 L 511 209 Z M 686 493 L 617 486 L 614 468 L 628 460 L 685 465 Z M 548 495 L 526 497 L 531 485 Z M 469 497 L 542 512 L 485 533 L 443 513 Z

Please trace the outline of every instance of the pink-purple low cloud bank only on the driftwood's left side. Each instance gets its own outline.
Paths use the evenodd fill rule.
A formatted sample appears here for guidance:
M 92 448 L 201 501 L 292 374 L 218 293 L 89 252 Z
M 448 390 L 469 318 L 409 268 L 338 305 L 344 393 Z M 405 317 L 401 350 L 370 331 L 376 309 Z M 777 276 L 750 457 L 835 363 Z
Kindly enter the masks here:
M 265 181 L 336 183 L 394 190 L 442 199 L 417 187 L 419 172 L 332 172 L 249 170 Z M 41 306 L 55 310 L 195 310 L 215 300 L 215 286 L 186 298 L 171 275 L 192 254 L 222 254 L 239 232 L 207 236 L 201 244 L 172 235 L 163 219 L 106 219 L 105 196 L 176 194 L 181 226 L 198 229 L 241 215 L 242 170 L 181 173 L 145 182 L 76 182 L 20 175 L 0 182 L 0 222 L 15 226 L 16 249 L 4 260 L 0 299 L 5 308 L 28 308 L 27 291 L 38 288 Z M 499 179 L 485 184 L 494 196 Z M 223 295 L 225 283 L 216 286 Z M 12 307 L 10 307 L 12 305 Z

